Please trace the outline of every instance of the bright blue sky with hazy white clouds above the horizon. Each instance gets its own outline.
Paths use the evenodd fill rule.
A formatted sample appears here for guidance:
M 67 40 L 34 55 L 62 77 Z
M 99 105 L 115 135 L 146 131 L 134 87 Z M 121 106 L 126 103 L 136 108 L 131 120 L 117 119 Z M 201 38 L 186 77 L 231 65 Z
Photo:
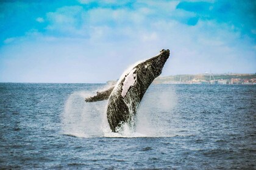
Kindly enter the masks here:
M 256 73 L 256 1 L 0 0 L 0 82 L 105 83 L 161 49 L 162 76 Z

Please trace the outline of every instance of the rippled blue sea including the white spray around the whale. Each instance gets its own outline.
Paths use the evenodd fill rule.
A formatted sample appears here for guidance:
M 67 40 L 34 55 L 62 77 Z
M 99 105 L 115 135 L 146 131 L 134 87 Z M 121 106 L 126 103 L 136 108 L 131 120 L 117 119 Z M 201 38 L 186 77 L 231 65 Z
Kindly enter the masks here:
M 256 86 L 153 84 L 119 134 L 106 86 L 0 83 L 0 169 L 256 169 Z

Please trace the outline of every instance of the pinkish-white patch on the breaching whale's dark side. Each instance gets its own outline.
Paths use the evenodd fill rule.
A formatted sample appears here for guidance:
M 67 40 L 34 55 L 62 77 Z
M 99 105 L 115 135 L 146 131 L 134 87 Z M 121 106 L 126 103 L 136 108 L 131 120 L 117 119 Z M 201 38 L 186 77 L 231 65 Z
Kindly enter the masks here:
M 135 71 L 136 69 L 133 69 L 132 71 L 130 71 L 130 73 L 126 76 L 126 79 L 124 80 L 122 93 L 121 93 L 123 98 L 126 97 L 126 94 L 130 89 L 130 87 L 133 86 L 137 81 L 137 75 L 136 73 L 134 73 Z

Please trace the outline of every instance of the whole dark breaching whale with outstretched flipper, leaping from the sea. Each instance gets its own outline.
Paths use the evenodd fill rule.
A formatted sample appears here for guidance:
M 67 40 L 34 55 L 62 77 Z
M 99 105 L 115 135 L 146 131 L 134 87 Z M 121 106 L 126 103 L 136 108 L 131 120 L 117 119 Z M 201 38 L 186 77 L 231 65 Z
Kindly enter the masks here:
M 97 92 L 94 97 L 85 99 L 87 102 L 108 99 L 107 120 L 113 132 L 118 131 L 123 123 L 132 123 L 137 108 L 146 90 L 161 73 L 169 50 L 161 50 L 157 56 L 143 61 L 124 73 L 116 83 L 104 92 Z

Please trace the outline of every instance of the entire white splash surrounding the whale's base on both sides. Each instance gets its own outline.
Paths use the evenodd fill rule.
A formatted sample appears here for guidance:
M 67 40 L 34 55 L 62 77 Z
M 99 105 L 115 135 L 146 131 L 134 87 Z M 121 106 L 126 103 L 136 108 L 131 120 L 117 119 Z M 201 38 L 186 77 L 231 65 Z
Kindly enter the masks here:
M 62 113 L 63 134 L 91 138 L 91 137 L 173 137 L 184 134 L 179 132 L 172 118 L 177 115 L 172 109 L 176 106 L 177 96 L 172 87 L 151 88 L 141 101 L 136 117 L 133 119 L 135 126 L 123 123 L 118 132 L 112 132 L 107 121 L 107 100 L 86 103 L 85 97 L 94 92 L 77 91 L 69 95 Z M 153 104 L 154 103 L 154 104 Z M 182 135 L 183 135 L 182 134 Z

